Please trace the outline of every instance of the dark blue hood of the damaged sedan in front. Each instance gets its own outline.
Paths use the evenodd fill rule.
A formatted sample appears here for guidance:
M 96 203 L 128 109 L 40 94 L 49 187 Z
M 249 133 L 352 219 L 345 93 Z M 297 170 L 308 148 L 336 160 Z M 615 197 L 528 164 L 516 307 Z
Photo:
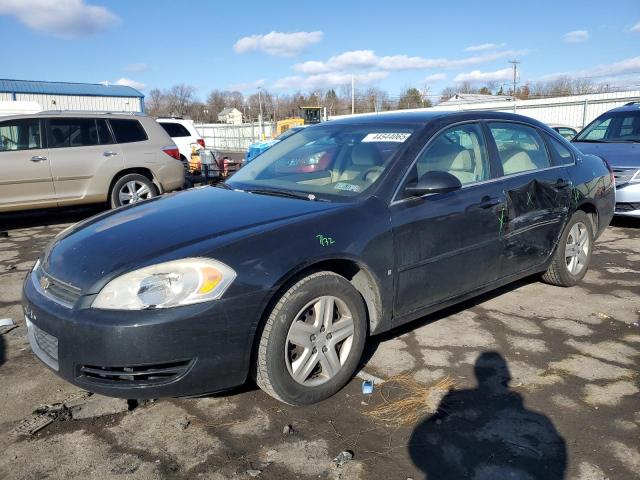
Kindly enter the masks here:
M 99 288 L 105 278 L 161 261 L 206 255 L 246 230 L 266 230 L 335 208 L 340 204 L 196 188 L 75 225 L 49 245 L 43 268 L 85 294 L 95 293 L 92 288 Z

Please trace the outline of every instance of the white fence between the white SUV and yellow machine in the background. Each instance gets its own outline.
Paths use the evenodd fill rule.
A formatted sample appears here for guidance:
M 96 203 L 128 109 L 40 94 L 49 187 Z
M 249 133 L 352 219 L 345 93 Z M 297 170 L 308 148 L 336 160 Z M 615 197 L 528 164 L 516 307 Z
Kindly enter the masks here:
M 207 147 L 226 152 L 244 152 L 254 142 L 263 138 L 269 139 L 276 131 L 274 122 L 264 122 L 264 137 L 260 123 L 242 123 L 228 125 L 225 123 L 195 124 Z

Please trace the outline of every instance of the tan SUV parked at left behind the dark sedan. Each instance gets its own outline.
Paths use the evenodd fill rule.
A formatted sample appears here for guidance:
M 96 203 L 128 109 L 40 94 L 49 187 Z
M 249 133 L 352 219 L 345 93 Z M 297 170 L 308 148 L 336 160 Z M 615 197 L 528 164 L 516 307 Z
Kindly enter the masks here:
M 180 188 L 179 153 L 141 114 L 41 112 L 0 119 L 0 211 L 108 202 Z

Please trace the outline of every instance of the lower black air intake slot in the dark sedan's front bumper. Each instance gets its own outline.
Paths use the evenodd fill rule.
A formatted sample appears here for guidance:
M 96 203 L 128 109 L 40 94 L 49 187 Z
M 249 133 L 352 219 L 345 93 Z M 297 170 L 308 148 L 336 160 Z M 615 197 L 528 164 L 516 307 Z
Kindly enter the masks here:
M 141 387 L 172 382 L 184 375 L 191 365 L 191 360 L 130 367 L 81 365 L 78 376 L 90 383 Z

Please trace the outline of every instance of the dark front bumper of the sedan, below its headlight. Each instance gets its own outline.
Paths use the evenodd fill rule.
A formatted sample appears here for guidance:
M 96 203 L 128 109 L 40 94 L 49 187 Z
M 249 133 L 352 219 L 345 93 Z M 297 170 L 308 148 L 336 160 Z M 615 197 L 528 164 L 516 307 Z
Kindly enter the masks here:
M 260 310 L 254 300 L 113 311 L 65 307 L 43 295 L 32 275 L 23 289 L 29 341 L 40 360 L 85 390 L 134 399 L 244 383 Z

